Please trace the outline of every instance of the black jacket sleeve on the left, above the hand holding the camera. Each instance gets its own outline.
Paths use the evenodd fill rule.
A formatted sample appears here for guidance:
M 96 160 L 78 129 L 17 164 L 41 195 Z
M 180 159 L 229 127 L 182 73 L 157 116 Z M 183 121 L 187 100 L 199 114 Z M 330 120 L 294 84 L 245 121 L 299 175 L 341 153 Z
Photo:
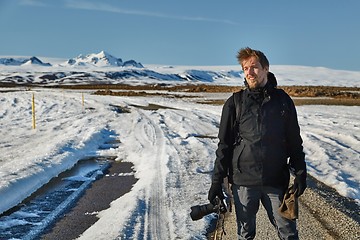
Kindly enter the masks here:
M 233 145 L 235 141 L 234 122 L 235 122 L 234 97 L 231 96 L 224 104 L 221 114 L 219 127 L 219 143 L 216 150 L 212 183 L 222 183 L 228 176 L 231 167 Z

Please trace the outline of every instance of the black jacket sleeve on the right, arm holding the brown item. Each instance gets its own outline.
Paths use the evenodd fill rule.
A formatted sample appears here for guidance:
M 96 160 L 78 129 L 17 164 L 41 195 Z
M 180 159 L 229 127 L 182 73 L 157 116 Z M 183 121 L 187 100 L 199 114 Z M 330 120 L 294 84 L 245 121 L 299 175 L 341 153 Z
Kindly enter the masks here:
M 294 102 L 288 97 L 289 116 L 287 124 L 287 149 L 290 158 L 290 167 L 295 171 L 295 174 L 306 174 L 305 154 L 303 151 L 303 141 L 300 135 L 300 127 L 298 123 L 296 108 Z

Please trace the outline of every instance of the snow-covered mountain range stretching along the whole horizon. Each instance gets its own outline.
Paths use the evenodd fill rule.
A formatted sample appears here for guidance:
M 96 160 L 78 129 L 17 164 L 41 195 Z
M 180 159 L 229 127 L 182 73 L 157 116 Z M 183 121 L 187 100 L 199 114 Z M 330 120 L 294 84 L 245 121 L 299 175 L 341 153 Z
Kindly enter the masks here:
M 242 85 L 240 65 L 177 66 L 148 64 L 136 67 L 135 60 L 121 58 L 101 51 L 79 55 L 73 59 L 85 62 L 65 64 L 66 59 L 47 58 L 44 63 L 37 57 L 1 57 L 0 83 L 3 85 L 92 85 L 92 84 L 216 84 Z M 41 64 L 42 63 L 42 64 Z M 122 66 L 119 66 L 122 65 Z M 135 67 L 134 67 L 135 66 Z M 324 67 L 272 65 L 270 71 L 279 86 L 360 86 L 360 71 L 336 70 Z

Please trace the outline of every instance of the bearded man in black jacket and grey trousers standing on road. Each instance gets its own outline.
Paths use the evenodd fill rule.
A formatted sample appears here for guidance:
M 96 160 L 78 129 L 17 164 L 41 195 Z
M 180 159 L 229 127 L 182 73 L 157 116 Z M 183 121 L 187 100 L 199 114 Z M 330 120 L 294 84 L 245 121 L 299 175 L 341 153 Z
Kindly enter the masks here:
M 305 154 L 294 103 L 276 88 L 264 53 L 247 47 L 238 52 L 237 59 L 246 89 L 236 100 L 241 106 L 239 115 L 235 95 L 223 106 L 208 199 L 214 203 L 216 197 L 224 198 L 222 183 L 228 177 L 239 239 L 254 239 L 260 202 L 280 239 L 298 239 L 296 221 L 278 213 L 289 185 L 290 168 L 295 174 L 296 196 L 306 188 Z

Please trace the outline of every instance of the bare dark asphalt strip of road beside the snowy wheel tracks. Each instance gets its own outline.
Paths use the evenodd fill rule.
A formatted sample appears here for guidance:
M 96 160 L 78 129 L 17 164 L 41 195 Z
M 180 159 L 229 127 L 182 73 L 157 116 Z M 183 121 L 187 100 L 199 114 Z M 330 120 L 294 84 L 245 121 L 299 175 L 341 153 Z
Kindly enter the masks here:
M 95 181 L 76 205 L 47 229 L 41 239 L 72 240 L 79 237 L 98 220 L 96 214 L 99 211 L 109 208 L 113 200 L 131 190 L 137 180 L 133 175 L 123 176 L 120 173 L 132 171 L 129 162 L 113 162 L 106 175 Z

